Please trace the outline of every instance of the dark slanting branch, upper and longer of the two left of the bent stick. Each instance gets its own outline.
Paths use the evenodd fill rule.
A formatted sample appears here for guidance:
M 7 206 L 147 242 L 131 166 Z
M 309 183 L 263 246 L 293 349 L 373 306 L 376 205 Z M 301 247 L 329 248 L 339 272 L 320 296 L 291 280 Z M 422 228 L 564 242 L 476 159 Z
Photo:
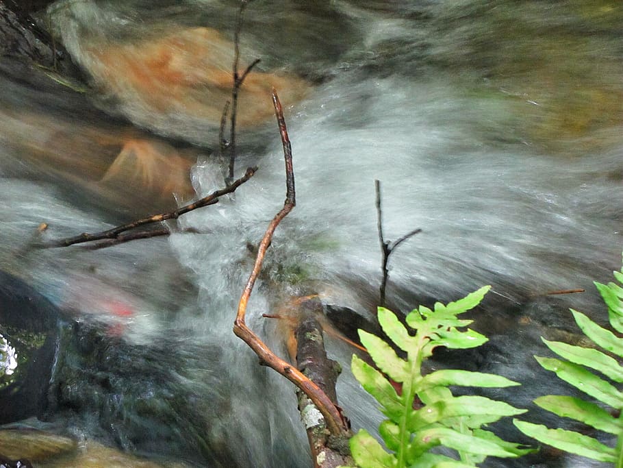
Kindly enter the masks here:
M 204 206 L 214 205 L 218 203 L 219 197 L 223 195 L 227 195 L 228 193 L 233 193 L 236 191 L 236 188 L 244 184 L 247 180 L 253 177 L 257 171 L 257 167 L 249 167 L 246 169 L 246 173 L 234 181 L 232 184 L 228 185 L 225 188 L 221 188 L 220 190 L 214 190 L 211 194 L 207 195 L 207 197 L 203 197 L 200 200 L 195 201 L 194 203 L 188 204 L 186 206 L 182 206 L 175 211 L 171 211 L 168 213 L 162 214 L 153 214 L 150 217 L 138 219 L 137 221 L 132 221 L 131 223 L 119 225 L 117 227 L 113 227 L 112 229 L 95 232 L 89 234 L 84 232 L 79 234 L 78 236 L 68 237 L 64 239 L 60 239 L 58 241 L 51 241 L 47 245 L 47 247 L 68 247 L 69 245 L 84 243 L 84 242 L 92 242 L 92 241 L 101 241 L 102 239 L 115 239 L 118 240 L 121 236 L 120 234 L 123 232 L 127 232 L 129 230 L 136 229 L 136 227 L 140 227 L 143 225 L 151 224 L 151 223 L 160 223 L 162 221 L 166 221 L 167 219 L 177 219 L 182 214 L 186 214 L 192 210 L 196 210 L 197 208 L 203 208 Z M 141 238 L 141 237 L 137 237 Z

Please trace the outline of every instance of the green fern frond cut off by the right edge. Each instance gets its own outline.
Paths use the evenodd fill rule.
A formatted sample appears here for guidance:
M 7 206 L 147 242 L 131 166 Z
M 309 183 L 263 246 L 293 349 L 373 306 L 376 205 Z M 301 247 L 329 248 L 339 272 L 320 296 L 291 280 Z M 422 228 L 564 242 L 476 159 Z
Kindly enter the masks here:
M 613 273 L 615 280 L 623 283 L 623 269 Z M 623 288 L 613 282 L 596 282 L 595 286 L 608 306 L 610 325 L 616 332 L 623 333 Z M 518 419 L 513 423 L 524 434 L 537 441 L 623 468 L 623 419 L 621 416 L 613 416 L 622 414 L 623 410 L 623 392 L 620 385 L 617 385 L 623 383 L 623 367 L 614 357 L 623 357 L 623 339 L 600 327 L 581 312 L 573 309 L 571 312 L 582 332 L 602 350 L 542 338 L 547 347 L 564 360 L 539 356 L 535 358 L 544 369 L 556 373 L 559 378 L 594 400 L 606 404 L 611 410 L 605 410 L 602 406 L 581 398 L 563 395 L 539 397 L 535 399 L 535 404 L 559 417 L 574 419 L 595 430 L 615 435 L 618 439 L 616 447 L 609 447 L 594 437 L 571 430 L 549 429 Z

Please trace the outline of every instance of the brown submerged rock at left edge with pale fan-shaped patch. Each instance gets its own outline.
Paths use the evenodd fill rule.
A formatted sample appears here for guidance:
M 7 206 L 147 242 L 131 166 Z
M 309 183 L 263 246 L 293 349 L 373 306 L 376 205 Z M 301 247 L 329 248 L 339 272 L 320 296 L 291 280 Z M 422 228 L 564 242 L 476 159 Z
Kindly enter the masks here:
M 25 73 L 14 62 L 0 64 L 0 87 L 8 90 L 0 121 L 10 141 L 1 158 L 12 177 L 52 181 L 81 203 L 118 207 L 124 219 L 172 210 L 175 197 L 194 195 L 190 167 L 201 149 L 110 119 L 84 94 L 43 73 L 25 82 Z

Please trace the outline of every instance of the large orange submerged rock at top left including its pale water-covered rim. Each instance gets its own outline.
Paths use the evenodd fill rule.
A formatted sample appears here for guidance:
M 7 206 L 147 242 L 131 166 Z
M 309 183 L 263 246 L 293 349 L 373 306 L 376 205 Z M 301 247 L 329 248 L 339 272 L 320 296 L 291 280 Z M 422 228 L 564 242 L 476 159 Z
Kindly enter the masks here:
M 92 2 L 49 10 L 51 21 L 74 60 L 90 75 L 96 98 L 107 112 L 166 136 L 214 143 L 223 108 L 231 100 L 234 43 L 209 27 L 153 25 L 145 34 Z M 233 28 L 233 25 L 231 25 Z M 244 49 L 239 73 L 255 58 Z M 270 98 L 277 88 L 292 105 L 311 86 L 296 75 L 262 70 L 244 80 L 238 97 L 238 125 L 257 127 L 272 119 Z

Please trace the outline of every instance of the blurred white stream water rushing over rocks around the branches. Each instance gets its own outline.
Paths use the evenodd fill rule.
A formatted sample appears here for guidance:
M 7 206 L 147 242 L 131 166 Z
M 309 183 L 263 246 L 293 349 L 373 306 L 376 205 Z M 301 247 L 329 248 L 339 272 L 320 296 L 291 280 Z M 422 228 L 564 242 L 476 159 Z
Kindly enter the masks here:
M 250 325 L 284 352 L 283 327 L 262 313 L 312 290 L 336 323 L 373 317 L 378 179 L 386 238 L 422 229 L 392 254 L 392 308 L 493 286 L 473 315 L 490 342 L 435 365 L 516 379 L 496 396 L 526 408 L 569 391 L 531 356 L 546 353 L 541 334 L 578 339 L 569 307 L 605 323 L 592 281 L 620 268 L 618 1 L 254 1 L 242 62 L 262 62 L 240 103 L 236 171 L 257 174 L 168 238 L 103 249 L 37 243 L 223 186 L 215 148 L 236 2 L 69 0 L 47 15 L 90 90 L 10 61 L 0 74 L 0 258 L 62 315 L 45 428 L 191 465 L 308 465 L 292 387 L 231 332 L 253 246 L 285 195 L 262 80 L 283 88 L 297 206 Z M 570 288 L 586 292 L 548 295 Z M 380 415 L 348 373 L 353 350 L 333 339 L 329 350 L 346 369 L 340 404 L 372 430 Z M 487 466 L 598 466 L 551 457 Z

